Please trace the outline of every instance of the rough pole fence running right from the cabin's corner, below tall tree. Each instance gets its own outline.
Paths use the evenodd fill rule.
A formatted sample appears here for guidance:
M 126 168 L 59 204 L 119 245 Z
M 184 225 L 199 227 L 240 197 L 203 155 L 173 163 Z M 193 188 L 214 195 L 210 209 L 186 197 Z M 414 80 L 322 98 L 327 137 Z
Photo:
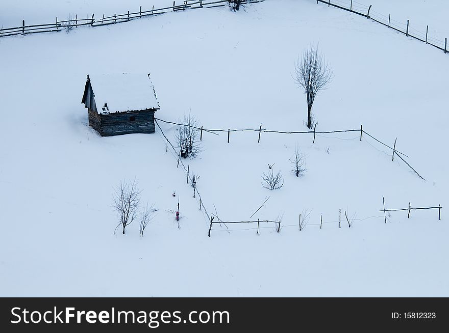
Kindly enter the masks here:
M 163 120 L 160 118 L 156 118 L 155 120 L 157 121 L 161 121 L 167 124 L 173 124 L 173 125 L 177 125 L 177 126 L 186 126 L 186 127 L 190 127 L 190 128 L 194 128 L 197 131 L 200 131 L 200 138 L 202 140 L 203 138 L 203 131 L 204 132 L 208 132 L 208 133 L 212 133 L 212 134 L 216 134 L 219 135 L 218 133 L 215 132 L 226 132 L 228 133 L 228 143 L 230 143 L 230 133 L 231 132 L 242 132 L 242 131 L 254 131 L 254 132 L 259 132 L 259 136 L 258 136 L 258 143 L 260 143 L 260 137 L 261 137 L 261 133 L 278 133 L 278 134 L 313 134 L 313 143 L 315 143 L 315 137 L 316 134 L 329 134 L 329 133 L 346 133 L 346 132 L 358 132 L 360 133 L 360 141 L 362 141 L 362 136 L 363 134 L 368 135 L 369 137 L 371 137 L 373 140 L 375 140 L 376 142 L 382 144 L 383 146 L 387 147 L 388 149 L 390 149 L 392 151 L 392 160 L 394 161 L 394 156 L 398 156 L 402 161 L 404 161 L 404 163 L 422 180 L 426 180 L 425 178 L 423 178 L 411 165 L 409 162 L 407 162 L 403 157 L 407 157 L 410 158 L 408 155 L 398 151 L 396 149 L 396 144 L 394 144 L 393 147 L 383 143 L 382 141 L 380 141 L 379 139 L 377 139 L 376 137 L 374 137 L 373 135 L 369 134 L 368 132 L 366 132 L 362 125 L 360 125 L 360 128 L 358 129 L 346 129 L 346 130 L 335 130 L 335 131 L 317 131 L 316 130 L 316 126 L 313 130 L 308 130 L 308 131 L 277 131 L 277 130 L 267 130 L 267 129 L 263 129 L 262 128 L 262 124 L 260 124 L 259 128 L 241 128 L 241 129 L 206 129 L 202 127 L 196 127 L 196 126 L 191 126 L 191 125 L 186 125 L 186 124 L 181 124 L 181 123 L 176 123 L 176 122 L 171 122 L 171 121 L 167 121 L 167 120 Z M 402 156 L 401 156 L 402 155 Z

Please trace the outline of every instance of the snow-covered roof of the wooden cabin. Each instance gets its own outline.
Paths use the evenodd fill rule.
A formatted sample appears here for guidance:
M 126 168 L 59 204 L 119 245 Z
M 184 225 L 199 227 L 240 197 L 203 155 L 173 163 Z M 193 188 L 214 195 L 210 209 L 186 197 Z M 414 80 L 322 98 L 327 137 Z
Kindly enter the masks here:
M 97 112 L 100 114 L 159 109 L 149 74 L 89 74 L 89 78 Z

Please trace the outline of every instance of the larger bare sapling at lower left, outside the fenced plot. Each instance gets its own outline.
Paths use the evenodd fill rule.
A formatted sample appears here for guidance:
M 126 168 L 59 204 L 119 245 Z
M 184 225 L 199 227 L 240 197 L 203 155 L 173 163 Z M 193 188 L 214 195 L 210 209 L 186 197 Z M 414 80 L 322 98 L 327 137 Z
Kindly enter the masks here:
M 137 188 L 137 181 L 135 179 L 133 182 L 120 181 L 120 184 L 114 188 L 112 202 L 112 206 L 117 211 L 120 220 L 114 230 L 114 234 L 121 225 L 124 235 L 125 228 L 136 218 L 137 207 L 140 202 L 140 191 Z

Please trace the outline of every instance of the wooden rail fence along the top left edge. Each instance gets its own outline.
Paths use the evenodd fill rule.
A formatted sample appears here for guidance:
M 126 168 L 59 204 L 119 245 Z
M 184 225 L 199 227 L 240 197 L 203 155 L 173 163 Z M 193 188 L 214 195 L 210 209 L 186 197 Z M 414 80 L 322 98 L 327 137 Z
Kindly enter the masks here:
M 242 0 L 242 4 L 252 4 L 259 3 L 265 0 Z M 25 20 L 22 20 L 22 25 L 15 27 L 5 27 L 0 29 L 0 37 L 8 37 L 15 35 L 28 35 L 28 34 L 36 34 L 36 33 L 50 33 L 50 32 L 60 32 L 60 31 L 70 31 L 73 28 L 81 27 L 81 26 L 102 26 L 109 24 L 116 24 L 121 22 L 128 22 L 134 19 L 154 16 L 159 14 L 164 14 L 168 12 L 176 12 L 176 11 L 185 11 L 187 9 L 197 9 L 197 8 L 214 8 L 214 7 L 224 7 L 227 4 L 234 3 L 234 0 L 178 0 L 179 5 L 176 4 L 176 1 L 173 1 L 173 5 L 170 7 L 164 8 L 154 8 L 150 10 L 143 10 L 142 6 L 140 6 L 139 11 L 130 12 L 128 11 L 126 14 L 114 14 L 111 16 L 106 16 L 103 14 L 102 17 L 95 17 L 95 14 L 92 14 L 91 17 L 87 18 L 78 18 L 78 15 L 74 15 L 74 19 L 69 16 L 66 20 L 58 20 L 56 17 L 55 22 L 46 23 L 46 24 L 33 24 L 26 25 Z

